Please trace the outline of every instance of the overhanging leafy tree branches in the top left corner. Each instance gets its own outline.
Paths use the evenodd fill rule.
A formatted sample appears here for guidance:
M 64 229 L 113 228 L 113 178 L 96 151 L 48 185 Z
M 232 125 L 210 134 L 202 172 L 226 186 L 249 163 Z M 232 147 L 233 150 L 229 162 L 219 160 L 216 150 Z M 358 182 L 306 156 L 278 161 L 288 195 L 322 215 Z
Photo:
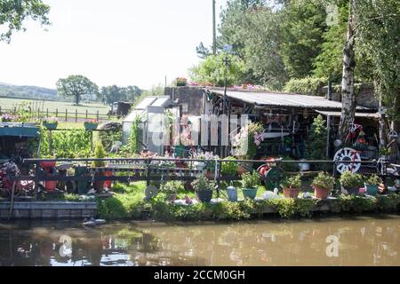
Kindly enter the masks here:
M 25 31 L 28 18 L 49 25 L 49 12 L 50 6 L 41 0 L 0 0 L 0 42 L 10 43 L 13 32 Z

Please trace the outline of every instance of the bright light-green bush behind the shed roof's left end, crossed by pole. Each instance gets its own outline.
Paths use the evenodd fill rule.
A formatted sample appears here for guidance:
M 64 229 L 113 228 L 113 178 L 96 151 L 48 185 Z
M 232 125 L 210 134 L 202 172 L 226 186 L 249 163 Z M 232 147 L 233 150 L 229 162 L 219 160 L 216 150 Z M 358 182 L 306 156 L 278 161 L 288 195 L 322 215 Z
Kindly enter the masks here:
M 190 79 L 193 82 L 222 87 L 225 83 L 225 64 L 223 59 L 228 58 L 228 85 L 242 83 L 244 62 L 236 56 L 226 53 L 210 55 L 196 67 L 190 68 Z

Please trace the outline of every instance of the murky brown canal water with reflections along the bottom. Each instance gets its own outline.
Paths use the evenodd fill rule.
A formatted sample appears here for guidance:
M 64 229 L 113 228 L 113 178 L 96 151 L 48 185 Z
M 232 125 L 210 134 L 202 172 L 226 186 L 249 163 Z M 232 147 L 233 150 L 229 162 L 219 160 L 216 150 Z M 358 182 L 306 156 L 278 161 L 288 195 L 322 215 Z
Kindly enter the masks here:
M 0 265 L 400 265 L 400 217 L 96 228 L 0 222 Z

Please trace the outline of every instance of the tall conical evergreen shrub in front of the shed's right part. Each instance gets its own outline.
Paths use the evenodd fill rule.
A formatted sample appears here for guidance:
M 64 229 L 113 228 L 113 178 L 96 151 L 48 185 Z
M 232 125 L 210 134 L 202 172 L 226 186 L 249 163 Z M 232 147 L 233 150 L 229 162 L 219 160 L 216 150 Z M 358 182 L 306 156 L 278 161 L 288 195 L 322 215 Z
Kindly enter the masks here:
M 306 141 L 306 158 L 308 160 L 321 160 L 326 156 L 326 138 L 328 129 L 321 114 L 318 114 L 311 124 Z M 324 165 L 316 165 L 324 168 Z

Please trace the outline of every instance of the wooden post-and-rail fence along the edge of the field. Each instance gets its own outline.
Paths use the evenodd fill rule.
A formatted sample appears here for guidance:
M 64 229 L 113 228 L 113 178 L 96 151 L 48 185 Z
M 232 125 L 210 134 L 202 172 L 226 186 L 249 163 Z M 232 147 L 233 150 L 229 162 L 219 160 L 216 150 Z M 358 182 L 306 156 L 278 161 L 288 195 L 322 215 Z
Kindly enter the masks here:
M 17 108 L 17 106 L 14 106 L 12 109 L 10 108 L 2 108 L 2 106 L 0 106 L 0 115 L 1 114 L 13 114 L 16 115 L 19 113 L 19 109 Z M 116 117 L 120 117 L 120 115 L 115 115 L 115 114 L 100 114 L 99 110 L 97 110 L 97 112 L 95 113 L 89 113 L 89 111 L 86 109 L 86 111 L 84 113 L 82 112 L 78 112 L 77 109 L 75 109 L 75 111 L 71 111 L 66 109 L 58 109 L 56 108 L 55 110 L 49 110 L 48 108 L 46 108 L 45 110 L 43 108 L 37 108 L 37 109 L 33 109 L 33 108 L 28 108 L 26 110 L 23 111 L 23 113 L 25 115 L 28 115 L 29 118 L 36 118 L 36 119 L 41 119 L 41 118 L 45 118 L 45 117 L 57 117 L 65 122 L 70 122 L 70 121 L 82 121 L 82 120 L 86 120 L 86 119 L 97 119 L 100 121 L 109 121 L 111 118 L 116 118 Z

